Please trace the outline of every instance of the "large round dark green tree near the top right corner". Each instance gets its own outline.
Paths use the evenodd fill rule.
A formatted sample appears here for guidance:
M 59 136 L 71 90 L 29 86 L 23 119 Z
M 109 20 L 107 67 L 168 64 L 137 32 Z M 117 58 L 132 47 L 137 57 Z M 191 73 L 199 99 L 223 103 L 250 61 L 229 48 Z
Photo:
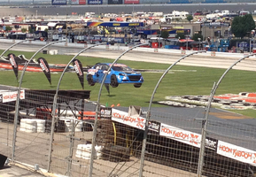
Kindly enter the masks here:
M 251 14 L 244 15 L 242 17 L 235 17 L 232 22 L 231 30 L 236 37 L 243 38 L 247 33 L 251 33 L 255 28 L 255 22 Z

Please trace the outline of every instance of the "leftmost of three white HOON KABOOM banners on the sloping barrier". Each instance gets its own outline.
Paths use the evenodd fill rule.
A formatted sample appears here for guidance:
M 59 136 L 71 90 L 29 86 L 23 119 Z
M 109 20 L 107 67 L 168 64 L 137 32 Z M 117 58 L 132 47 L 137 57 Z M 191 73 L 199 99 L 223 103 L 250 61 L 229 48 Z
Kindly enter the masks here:
M 128 125 L 130 127 L 136 127 L 143 129 L 145 126 L 145 119 L 137 116 L 128 116 L 128 112 L 122 112 L 116 109 L 112 109 L 112 120 Z

